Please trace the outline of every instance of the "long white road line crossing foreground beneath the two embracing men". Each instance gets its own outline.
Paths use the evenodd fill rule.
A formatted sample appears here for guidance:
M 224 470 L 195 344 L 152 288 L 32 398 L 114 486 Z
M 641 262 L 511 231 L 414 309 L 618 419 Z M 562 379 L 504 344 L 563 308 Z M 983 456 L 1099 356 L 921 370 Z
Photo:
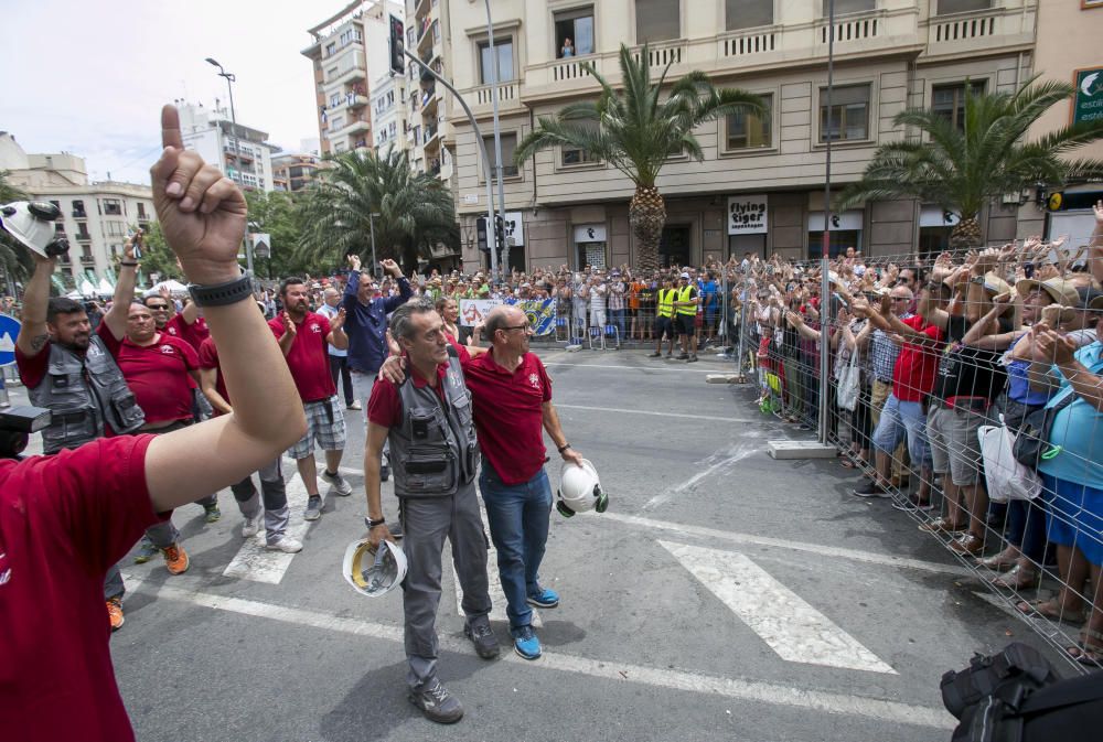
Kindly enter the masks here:
M 173 582 L 176 583 L 189 581 L 186 576 L 173 579 Z M 401 626 L 385 625 L 356 619 L 344 619 L 319 611 L 306 611 L 239 598 L 213 595 L 167 584 L 150 587 L 149 590 L 160 598 L 217 611 L 227 611 L 368 638 L 385 639 L 396 644 L 401 644 L 403 642 Z M 471 653 L 470 642 L 456 636 L 441 636 L 440 646 L 446 652 Z M 503 652 L 501 658 L 496 662 L 511 663 L 526 668 L 543 667 L 564 673 L 576 673 L 613 682 L 635 682 L 668 690 L 721 696 L 752 703 L 773 703 L 821 713 L 861 717 L 893 725 L 914 724 L 939 730 L 951 730 L 957 723 L 955 719 L 941 708 L 912 706 L 882 698 L 870 698 L 868 696 L 847 696 L 822 690 L 808 690 L 775 682 L 725 678 L 676 669 L 658 669 L 607 659 L 590 659 L 577 655 L 549 652 L 547 647 L 544 649 L 544 655 L 535 663 L 522 659 L 512 652 Z

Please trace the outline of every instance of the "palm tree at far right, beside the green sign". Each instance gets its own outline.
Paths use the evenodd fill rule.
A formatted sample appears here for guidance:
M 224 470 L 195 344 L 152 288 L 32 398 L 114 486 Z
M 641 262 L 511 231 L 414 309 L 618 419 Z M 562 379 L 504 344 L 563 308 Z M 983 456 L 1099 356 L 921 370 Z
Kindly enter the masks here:
M 962 249 L 981 244 L 977 217 L 992 198 L 1038 184 L 1060 187 L 1103 178 L 1103 161 L 1063 157 L 1103 139 L 1103 121 L 1074 123 L 1026 140 L 1050 107 L 1075 93 L 1065 83 L 1036 80 L 1028 79 L 1015 93 L 978 94 L 966 82 L 963 128 L 934 109 L 897 114 L 896 126 L 913 127 L 922 138 L 877 148 L 861 181 L 843 191 L 835 208 L 899 197 L 939 204 L 961 217 L 950 245 Z

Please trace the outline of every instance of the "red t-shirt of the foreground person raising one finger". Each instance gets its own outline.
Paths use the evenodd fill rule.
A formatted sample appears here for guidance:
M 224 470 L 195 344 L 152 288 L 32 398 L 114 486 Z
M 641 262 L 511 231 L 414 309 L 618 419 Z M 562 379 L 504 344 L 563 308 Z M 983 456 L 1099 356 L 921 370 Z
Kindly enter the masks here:
M 158 521 L 153 435 L 0 461 L 0 739 L 130 742 L 104 576 Z

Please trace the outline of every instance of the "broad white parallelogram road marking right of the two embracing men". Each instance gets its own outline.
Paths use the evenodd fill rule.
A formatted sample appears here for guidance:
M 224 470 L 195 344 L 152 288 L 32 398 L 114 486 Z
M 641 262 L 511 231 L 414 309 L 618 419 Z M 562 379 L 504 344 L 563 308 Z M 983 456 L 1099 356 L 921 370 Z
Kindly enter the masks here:
M 743 555 L 671 541 L 658 544 L 785 662 L 897 675 L 834 621 Z

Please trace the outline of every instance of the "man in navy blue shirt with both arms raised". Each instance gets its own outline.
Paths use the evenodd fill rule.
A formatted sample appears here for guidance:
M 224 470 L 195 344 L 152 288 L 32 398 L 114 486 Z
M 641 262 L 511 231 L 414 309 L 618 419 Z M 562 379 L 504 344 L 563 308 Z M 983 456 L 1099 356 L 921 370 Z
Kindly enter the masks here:
M 372 397 L 372 386 L 379 366 L 386 361 L 387 348 L 387 315 L 405 304 L 414 295 L 410 282 L 403 276 L 401 268 L 394 260 L 379 262 L 383 270 L 398 283 L 397 297 L 377 297 L 378 284 L 368 272 L 361 272 L 360 257 L 349 256 L 349 282 L 342 305 L 345 310 L 344 331 L 349 335 L 349 370 L 352 373 L 352 388 L 360 400 L 365 415 L 367 400 Z M 366 424 L 366 421 L 365 421 Z M 386 463 L 379 470 L 379 477 L 386 482 L 390 476 L 390 466 Z

